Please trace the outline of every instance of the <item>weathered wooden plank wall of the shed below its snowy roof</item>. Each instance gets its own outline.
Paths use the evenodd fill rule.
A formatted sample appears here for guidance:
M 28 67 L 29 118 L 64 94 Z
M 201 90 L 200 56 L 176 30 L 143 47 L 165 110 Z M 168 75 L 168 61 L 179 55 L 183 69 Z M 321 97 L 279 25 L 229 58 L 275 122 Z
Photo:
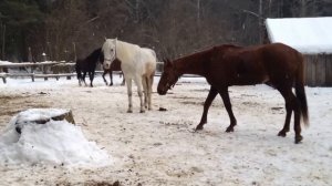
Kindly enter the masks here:
M 305 84 L 332 86 L 332 54 L 304 55 Z

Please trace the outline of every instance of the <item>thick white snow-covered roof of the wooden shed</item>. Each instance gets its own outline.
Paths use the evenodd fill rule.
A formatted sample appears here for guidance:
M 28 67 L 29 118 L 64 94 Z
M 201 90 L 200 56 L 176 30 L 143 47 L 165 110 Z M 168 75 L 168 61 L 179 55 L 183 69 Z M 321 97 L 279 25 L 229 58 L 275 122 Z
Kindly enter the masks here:
M 282 42 L 302 53 L 332 53 L 332 17 L 267 19 L 272 43 Z

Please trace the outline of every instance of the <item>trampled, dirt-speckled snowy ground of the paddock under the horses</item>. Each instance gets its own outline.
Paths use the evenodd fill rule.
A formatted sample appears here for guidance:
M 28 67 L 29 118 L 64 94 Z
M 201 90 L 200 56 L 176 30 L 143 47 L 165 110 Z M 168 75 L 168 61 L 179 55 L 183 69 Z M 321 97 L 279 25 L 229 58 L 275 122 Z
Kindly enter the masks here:
M 0 131 L 20 111 L 34 107 L 71 108 L 89 141 L 105 149 L 114 164 L 104 167 L 61 165 L 0 165 L 1 185 L 331 185 L 332 89 L 305 87 L 310 127 L 303 143 L 294 133 L 277 136 L 284 121 L 281 95 L 266 86 L 230 89 L 238 120 L 235 133 L 220 97 L 199 133 L 208 85 L 203 79 L 181 79 L 169 94 L 153 94 L 153 111 L 127 114 L 126 87 L 95 87 L 76 80 L 9 80 L 0 83 Z M 158 79 L 156 78 L 154 90 Z M 135 89 L 136 90 L 136 89 Z M 167 108 L 166 112 L 158 111 Z

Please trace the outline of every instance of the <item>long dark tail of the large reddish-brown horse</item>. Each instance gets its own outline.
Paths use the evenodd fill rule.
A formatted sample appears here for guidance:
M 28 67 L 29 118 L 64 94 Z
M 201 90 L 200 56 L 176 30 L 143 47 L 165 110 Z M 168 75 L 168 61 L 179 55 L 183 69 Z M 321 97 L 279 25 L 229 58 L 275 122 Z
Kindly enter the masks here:
M 300 111 L 304 122 L 304 125 L 309 126 L 309 115 L 308 115 L 308 104 L 304 90 L 304 59 L 300 54 L 300 63 L 295 78 L 295 94 L 297 99 L 300 102 Z

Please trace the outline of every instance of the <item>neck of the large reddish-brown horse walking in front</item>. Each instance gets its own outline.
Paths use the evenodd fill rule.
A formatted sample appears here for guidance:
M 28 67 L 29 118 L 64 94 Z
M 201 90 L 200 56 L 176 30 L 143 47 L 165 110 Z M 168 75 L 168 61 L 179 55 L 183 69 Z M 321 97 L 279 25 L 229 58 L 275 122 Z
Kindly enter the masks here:
M 209 51 L 195 53 L 188 56 L 180 58 L 174 63 L 180 75 L 183 74 L 196 74 L 206 75 L 205 65 L 209 61 Z

